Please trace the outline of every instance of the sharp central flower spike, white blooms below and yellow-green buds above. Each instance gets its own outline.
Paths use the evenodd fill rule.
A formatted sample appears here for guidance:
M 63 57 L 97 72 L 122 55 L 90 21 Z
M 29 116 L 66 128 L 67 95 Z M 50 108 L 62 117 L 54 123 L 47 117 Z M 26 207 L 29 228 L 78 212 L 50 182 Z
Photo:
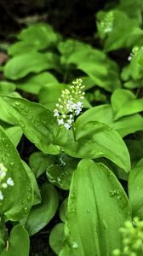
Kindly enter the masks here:
M 54 117 L 56 117 L 58 125 L 63 125 L 67 130 L 72 127 L 74 117 L 82 112 L 84 92 L 82 91 L 84 85 L 82 79 L 77 79 L 72 82 L 69 90 L 62 90 L 59 103 L 54 109 Z

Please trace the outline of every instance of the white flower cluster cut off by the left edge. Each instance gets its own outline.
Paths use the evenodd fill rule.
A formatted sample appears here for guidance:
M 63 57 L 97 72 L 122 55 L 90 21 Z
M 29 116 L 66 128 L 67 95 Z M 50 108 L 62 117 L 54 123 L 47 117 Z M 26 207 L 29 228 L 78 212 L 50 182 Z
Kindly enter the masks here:
M 0 163 L 0 201 L 3 201 L 3 189 L 7 189 L 8 186 L 14 186 L 12 177 L 7 176 L 8 169 Z

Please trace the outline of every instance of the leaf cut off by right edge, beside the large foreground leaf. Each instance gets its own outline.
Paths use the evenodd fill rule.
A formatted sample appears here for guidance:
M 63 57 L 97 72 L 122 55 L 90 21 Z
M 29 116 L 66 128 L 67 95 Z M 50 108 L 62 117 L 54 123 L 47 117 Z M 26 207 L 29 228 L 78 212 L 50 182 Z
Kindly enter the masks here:
M 134 216 L 143 218 L 143 159 L 129 173 L 129 201 L 133 209 Z

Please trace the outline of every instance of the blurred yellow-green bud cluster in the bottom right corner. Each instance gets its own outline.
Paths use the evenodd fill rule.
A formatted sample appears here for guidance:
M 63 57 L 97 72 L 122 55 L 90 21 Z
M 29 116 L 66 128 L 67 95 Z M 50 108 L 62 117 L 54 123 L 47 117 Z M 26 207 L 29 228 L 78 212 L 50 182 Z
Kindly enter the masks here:
M 123 235 L 123 250 L 115 249 L 113 255 L 143 255 L 143 221 L 138 217 L 134 218 L 133 223 L 126 221 L 120 232 Z

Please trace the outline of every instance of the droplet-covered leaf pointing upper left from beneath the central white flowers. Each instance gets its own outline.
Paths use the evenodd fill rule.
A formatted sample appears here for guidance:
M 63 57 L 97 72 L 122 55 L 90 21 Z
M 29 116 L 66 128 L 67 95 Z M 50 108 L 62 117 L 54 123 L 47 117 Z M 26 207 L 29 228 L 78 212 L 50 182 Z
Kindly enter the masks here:
M 26 99 L 3 96 L 26 137 L 46 154 L 59 154 L 60 143 L 66 142 L 66 129 L 60 129 L 48 108 Z M 57 137 L 57 132 L 60 134 Z

